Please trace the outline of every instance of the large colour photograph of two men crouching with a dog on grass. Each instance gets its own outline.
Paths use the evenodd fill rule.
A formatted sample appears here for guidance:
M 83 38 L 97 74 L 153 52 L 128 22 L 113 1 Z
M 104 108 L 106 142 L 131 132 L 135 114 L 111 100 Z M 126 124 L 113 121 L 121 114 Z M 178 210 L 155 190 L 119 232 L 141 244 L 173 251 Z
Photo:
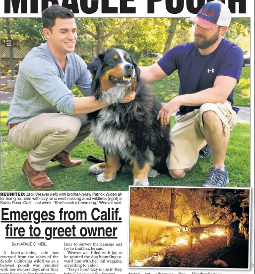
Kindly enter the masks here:
M 250 187 L 250 18 L 0 20 L 2 191 Z

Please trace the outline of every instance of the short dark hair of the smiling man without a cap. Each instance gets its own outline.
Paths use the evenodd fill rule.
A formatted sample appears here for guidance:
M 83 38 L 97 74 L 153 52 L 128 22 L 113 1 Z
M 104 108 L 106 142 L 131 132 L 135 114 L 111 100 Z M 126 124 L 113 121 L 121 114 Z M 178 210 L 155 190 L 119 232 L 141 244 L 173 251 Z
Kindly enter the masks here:
M 51 5 L 42 12 L 43 27 L 52 32 L 56 18 L 74 18 L 74 14 L 66 7 L 61 5 Z

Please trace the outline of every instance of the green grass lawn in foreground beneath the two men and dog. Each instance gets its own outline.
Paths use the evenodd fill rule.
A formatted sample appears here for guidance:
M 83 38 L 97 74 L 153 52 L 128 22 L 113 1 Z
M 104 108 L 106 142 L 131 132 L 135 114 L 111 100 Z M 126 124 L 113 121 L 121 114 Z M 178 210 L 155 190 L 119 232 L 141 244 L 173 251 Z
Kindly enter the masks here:
M 6 116 L 9 106 L 1 106 L 1 190 L 32 191 L 27 178 L 21 171 L 27 152 L 20 151 L 8 141 Z M 171 126 L 174 117 L 171 117 Z M 58 163 L 50 163 L 46 172 L 56 184 L 56 191 L 128 191 L 132 185 L 132 175 L 119 174 L 112 182 L 99 183 L 96 175 L 89 173 L 88 168 L 92 163 L 86 156 L 93 155 L 103 158 L 103 151 L 91 137 L 86 138 L 75 150 L 71 157 L 82 159 L 83 164 L 63 168 Z M 152 186 L 202 186 L 210 168 L 211 160 L 199 160 L 184 179 L 172 179 L 167 175 L 149 178 Z M 250 125 L 238 124 L 234 128 L 226 156 L 226 166 L 229 172 L 229 187 L 250 187 Z

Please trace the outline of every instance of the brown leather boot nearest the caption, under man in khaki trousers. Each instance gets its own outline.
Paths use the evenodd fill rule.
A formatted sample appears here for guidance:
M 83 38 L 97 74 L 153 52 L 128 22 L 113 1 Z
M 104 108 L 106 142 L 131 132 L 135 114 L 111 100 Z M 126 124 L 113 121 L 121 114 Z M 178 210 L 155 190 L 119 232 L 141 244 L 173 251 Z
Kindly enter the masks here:
M 27 161 L 23 164 L 22 171 L 27 176 L 28 183 L 32 188 L 48 190 L 55 187 L 45 171 L 35 170 Z

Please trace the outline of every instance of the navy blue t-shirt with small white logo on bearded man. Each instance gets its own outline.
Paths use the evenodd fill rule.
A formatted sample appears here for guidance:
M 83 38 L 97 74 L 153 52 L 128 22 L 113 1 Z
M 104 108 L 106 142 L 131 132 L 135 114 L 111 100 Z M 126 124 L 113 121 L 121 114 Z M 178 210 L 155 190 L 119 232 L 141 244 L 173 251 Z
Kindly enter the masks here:
M 209 55 L 200 55 L 194 43 L 176 46 L 164 55 L 159 61 L 159 66 L 170 75 L 176 69 L 180 78 L 179 95 L 196 93 L 201 90 L 212 88 L 218 75 L 225 75 L 240 80 L 244 62 L 244 53 L 234 43 L 222 39 L 217 49 Z M 234 89 L 228 97 L 233 110 Z M 197 107 L 181 106 L 177 115 L 183 115 Z

